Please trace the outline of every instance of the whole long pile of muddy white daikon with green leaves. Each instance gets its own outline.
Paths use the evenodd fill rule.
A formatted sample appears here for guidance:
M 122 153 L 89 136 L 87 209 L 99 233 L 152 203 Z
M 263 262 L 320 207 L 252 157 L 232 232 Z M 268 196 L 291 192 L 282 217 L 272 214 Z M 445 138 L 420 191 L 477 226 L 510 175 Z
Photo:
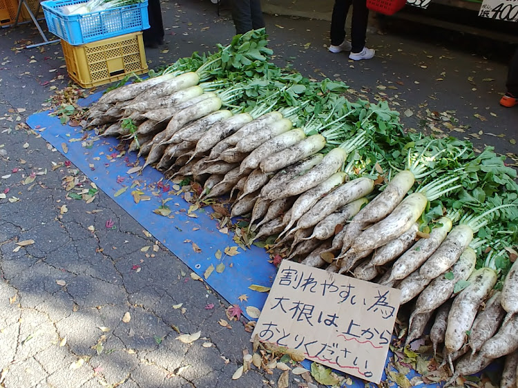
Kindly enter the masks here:
M 250 52 L 243 44 L 231 46 Z M 198 69 L 182 61 L 111 90 L 90 107 L 91 125 L 131 139 L 145 166 L 202 182 L 200 199 L 228 195 L 231 215 L 249 215 L 252 238 L 276 237 L 269 248 L 282 256 L 401 289 L 407 343 L 432 321 L 454 378 L 507 356 L 502 387 L 515 386 L 516 171 L 490 148 L 403 135 L 386 104 L 352 104 L 289 72 L 268 78 L 264 59 L 211 77 L 228 47 Z

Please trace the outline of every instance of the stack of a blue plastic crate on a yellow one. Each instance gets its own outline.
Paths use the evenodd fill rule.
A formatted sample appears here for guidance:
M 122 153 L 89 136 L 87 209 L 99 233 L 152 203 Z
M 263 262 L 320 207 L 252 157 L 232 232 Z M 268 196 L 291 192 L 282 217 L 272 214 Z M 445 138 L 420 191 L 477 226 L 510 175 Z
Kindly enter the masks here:
M 6 1 L 6 0 L 0 0 Z M 43 1 L 48 30 L 61 38 L 68 75 L 83 88 L 148 71 L 142 30 L 149 28 L 147 0 L 88 14 L 60 8 L 87 0 Z

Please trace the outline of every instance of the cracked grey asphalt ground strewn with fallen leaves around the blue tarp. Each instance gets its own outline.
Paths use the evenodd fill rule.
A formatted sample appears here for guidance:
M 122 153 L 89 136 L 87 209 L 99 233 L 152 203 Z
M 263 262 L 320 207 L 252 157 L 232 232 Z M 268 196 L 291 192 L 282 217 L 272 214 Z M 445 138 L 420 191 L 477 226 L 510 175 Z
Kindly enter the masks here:
M 150 68 L 213 50 L 234 32 L 224 4 L 220 16 L 209 0 L 165 2 L 162 10 L 166 44 L 146 51 Z M 376 57 L 354 62 L 327 51 L 327 21 L 272 14 L 266 22 L 280 66 L 341 79 L 351 99 L 386 99 L 407 130 L 493 145 L 517 163 L 518 108 L 498 103 L 506 64 L 488 59 L 505 52 L 483 57 L 472 37 L 377 23 L 367 43 Z M 191 280 L 123 208 L 101 191 L 90 203 L 67 199 L 70 177 L 90 182 L 23 124 L 68 85 L 61 47 L 23 48 L 41 41 L 30 25 L 0 35 L 0 387 L 276 386 L 278 374 L 256 369 L 231 380 L 251 347 L 244 322 L 218 324 L 228 303 Z M 202 340 L 176 339 L 197 331 Z M 290 387 L 299 386 L 294 377 Z

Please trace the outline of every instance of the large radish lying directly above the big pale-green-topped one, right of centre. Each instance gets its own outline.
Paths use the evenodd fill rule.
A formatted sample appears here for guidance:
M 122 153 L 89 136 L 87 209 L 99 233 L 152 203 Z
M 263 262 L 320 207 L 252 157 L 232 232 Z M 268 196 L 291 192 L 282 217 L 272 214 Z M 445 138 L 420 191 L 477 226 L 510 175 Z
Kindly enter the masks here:
M 399 205 L 410 188 L 414 185 L 414 174 L 410 171 L 401 171 L 392 177 L 385 190 L 374 198 L 360 213 L 354 217 L 353 222 L 358 224 L 374 224 L 383 220 Z

